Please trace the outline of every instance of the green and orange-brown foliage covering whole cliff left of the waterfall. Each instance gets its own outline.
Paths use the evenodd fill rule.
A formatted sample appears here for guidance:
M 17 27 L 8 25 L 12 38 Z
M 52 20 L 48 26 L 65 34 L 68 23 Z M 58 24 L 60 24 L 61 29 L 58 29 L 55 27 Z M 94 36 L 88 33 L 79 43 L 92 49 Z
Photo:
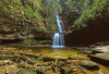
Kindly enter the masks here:
M 44 29 L 40 29 L 40 26 L 43 25 L 46 25 L 48 30 L 57 32 L 58 26 L 55 18 L 56 9 L 59 12 L 62 12 L 60 9 L 61 5 L 58 2 L 58 0 L 2 0 L 0 2 L 0 15 L 12 15 L 13 20 L 15 20 L 15 24 L 13 26 L 20 26 L 23 24 L 23 21 L 27 21 L 35 24 L 38 32 L 45 33 Z M 23 30 L 21 27 L 16 28 Z M 21 37 L 17 38 L 21 39 Z

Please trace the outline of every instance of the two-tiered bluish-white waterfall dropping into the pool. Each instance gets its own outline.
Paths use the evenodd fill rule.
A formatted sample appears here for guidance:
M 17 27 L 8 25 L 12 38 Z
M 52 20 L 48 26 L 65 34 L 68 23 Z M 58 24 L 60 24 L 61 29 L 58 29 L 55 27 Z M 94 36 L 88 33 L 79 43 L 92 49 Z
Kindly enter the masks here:
M 53 45 L 52 47 L 53 48 L 62 48 L 64 47 L 64 37 L 63 37 L 63 34 L 62 34 L 62 28 L 61 28 L 61 24 L 60 24 L 60 21 L 59 21 L 59 15 L 58 15 L 58 12 L 56 11 L 57 13 L 57 24 L 58 24 L 58 27 L 59 27 L 59 33 L 55 33 L 53 35 Z

